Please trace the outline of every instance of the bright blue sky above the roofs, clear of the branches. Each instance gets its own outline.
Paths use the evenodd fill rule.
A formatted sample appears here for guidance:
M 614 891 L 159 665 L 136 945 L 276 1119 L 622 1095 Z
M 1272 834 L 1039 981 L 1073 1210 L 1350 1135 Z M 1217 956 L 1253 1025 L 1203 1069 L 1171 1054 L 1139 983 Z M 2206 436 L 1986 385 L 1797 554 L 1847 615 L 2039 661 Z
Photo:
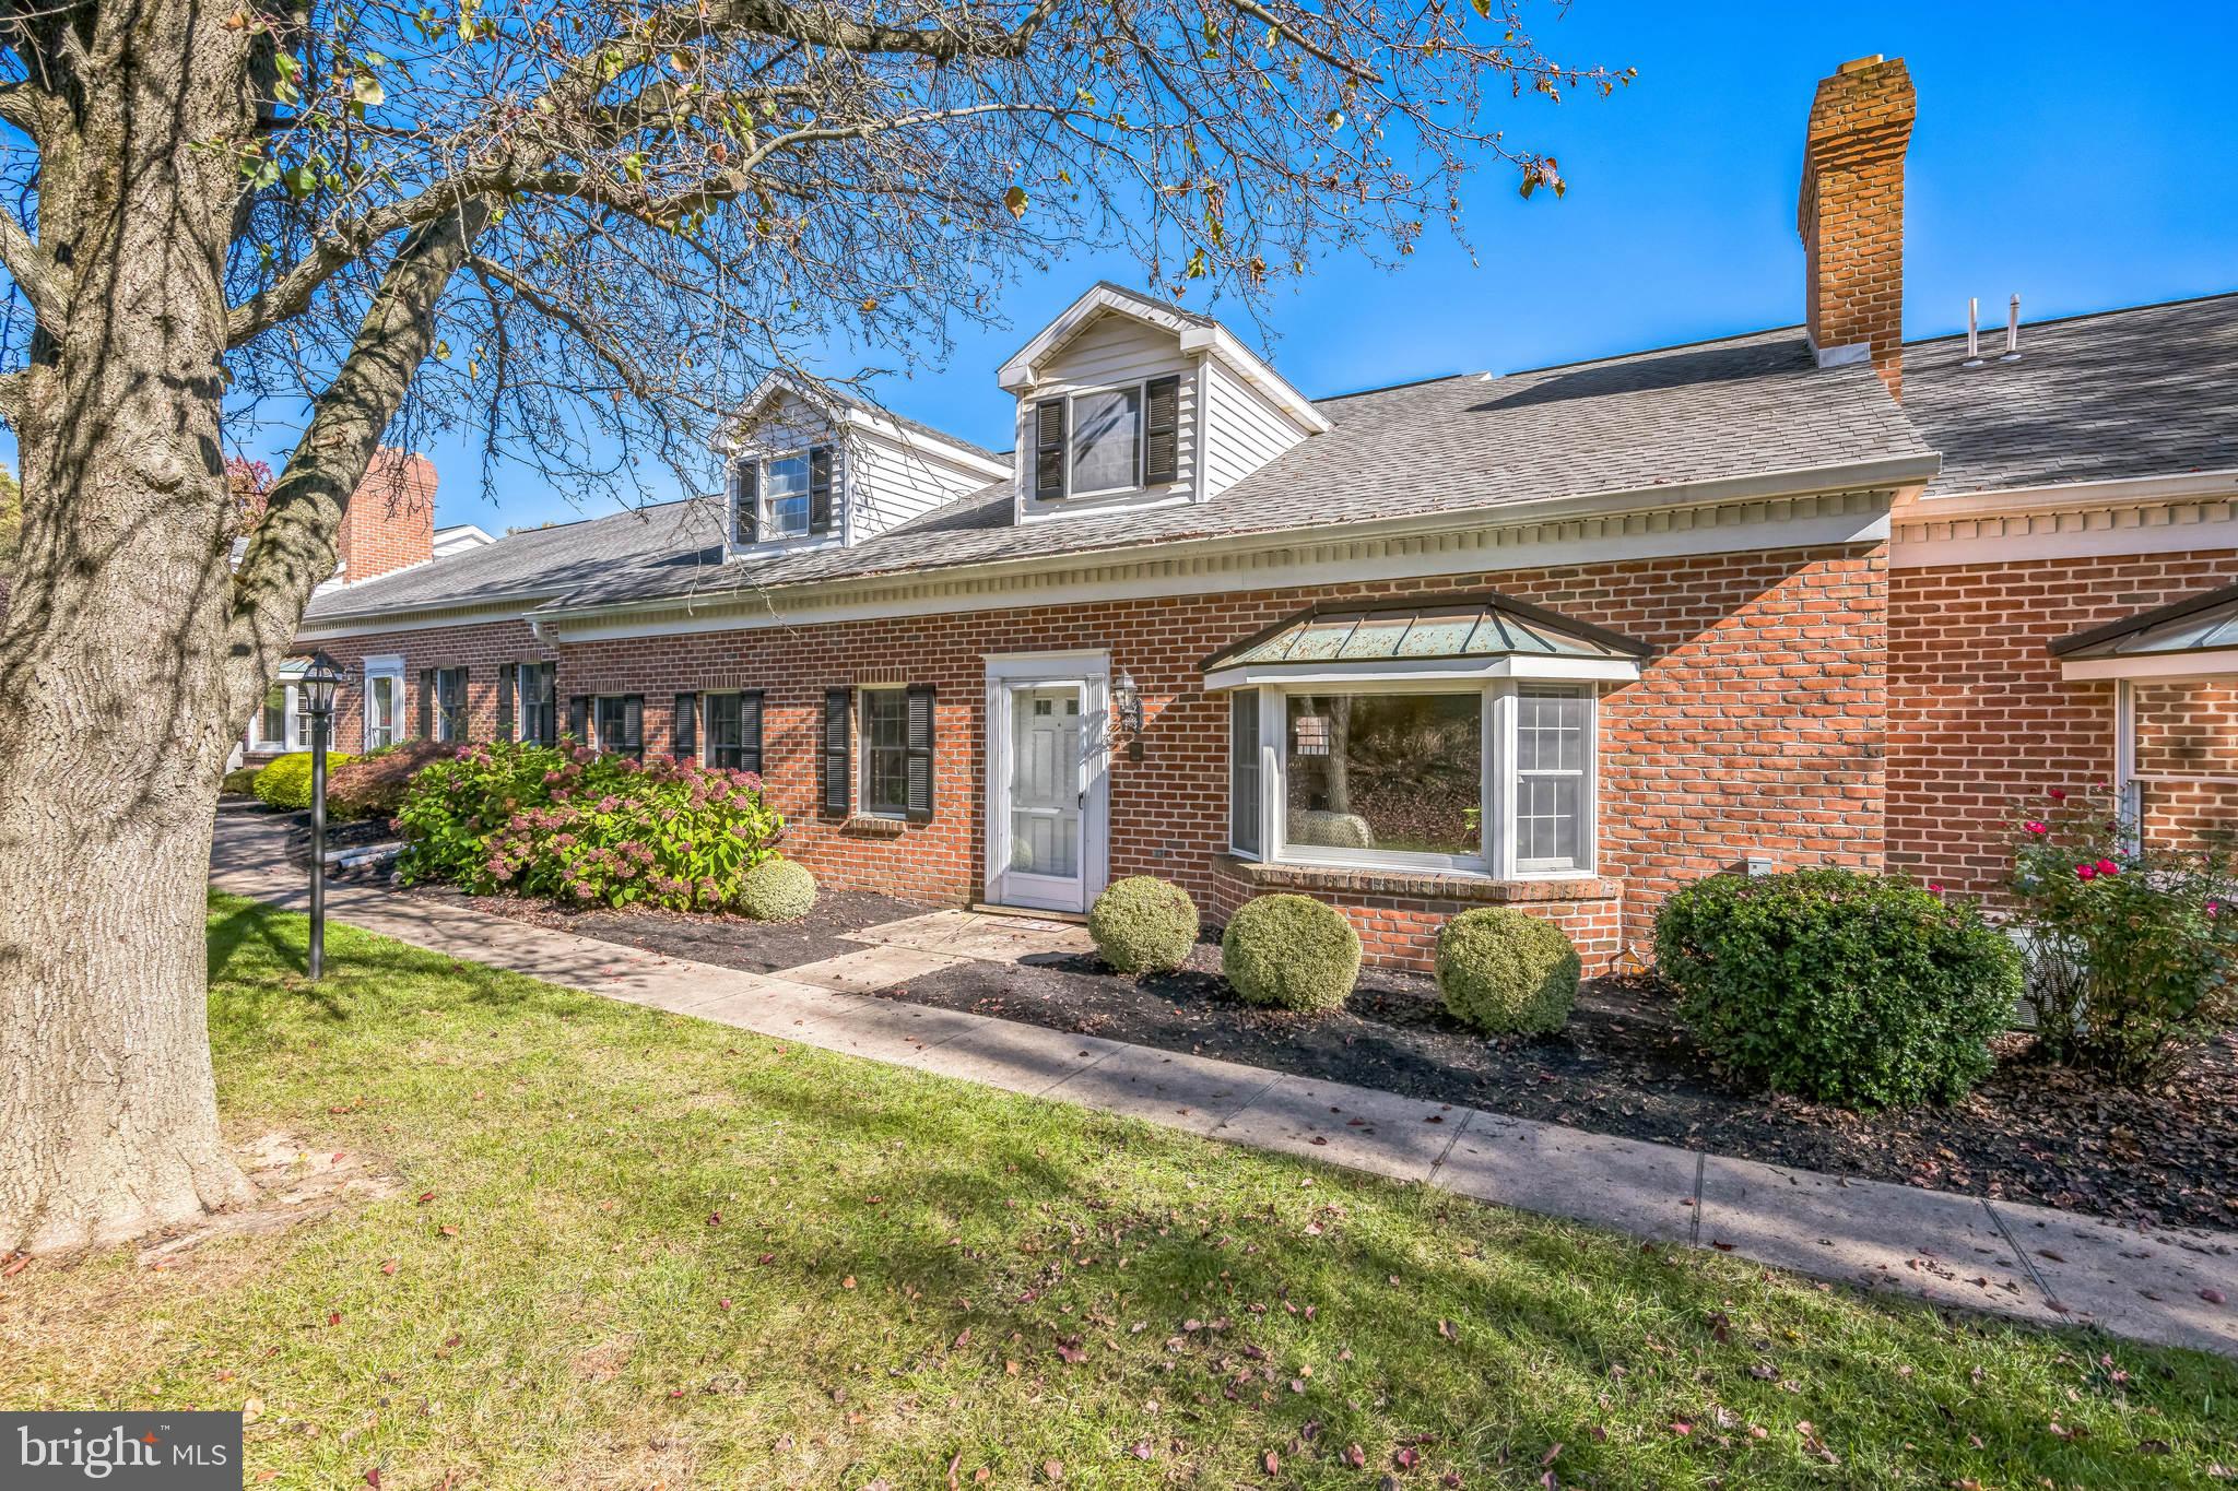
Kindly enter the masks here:
M 1468 197 L 1475 262 L 1432 235 L 1401 270 L 1327 259 L 1267 313 L 1276 367 L 1307 396 L 1450 371 L 1513 371 L 1802 320 L 1795 188 L 1817 78 L 1907 58 L 1920 92 L 1907 190 L 1909 335 L 2238 288 L 2238 58 L 2231 4 L 1878 7 L 1576 0 L 1542 7 L 1546 49 L 1638 67 L 1611 98 L 1502 103 L 1513 143 L 1555 154 L 1569 197 L 1522 201 L 1506 170 Z M 942 376 L 895 380 L 897 411 L 996 449 L 994 369 L 1088 282 L 1141 284 L 1081 255 L 965 333 Z M 1217 302 L 1211 304 L 1220 313 Z M 1238 331 L 1249 322 L 1238 317 Z M 479 490 L 474 436 L 430 454 L 439 521 L 566 521 L 533 476 Z M 595 510 L 593 510 L 595 512 Z

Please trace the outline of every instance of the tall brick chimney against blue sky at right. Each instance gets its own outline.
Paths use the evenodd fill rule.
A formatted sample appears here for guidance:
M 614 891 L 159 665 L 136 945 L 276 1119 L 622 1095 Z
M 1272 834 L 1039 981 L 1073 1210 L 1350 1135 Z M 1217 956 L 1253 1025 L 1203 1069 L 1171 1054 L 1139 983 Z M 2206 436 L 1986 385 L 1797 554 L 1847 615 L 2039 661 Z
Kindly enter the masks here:
M 1905 398 L 1905 148 L 1918 96 L 1905 58 L 1842 63 L 1804 134 L 1804 315 L 1819 367 L 1862 362 Z

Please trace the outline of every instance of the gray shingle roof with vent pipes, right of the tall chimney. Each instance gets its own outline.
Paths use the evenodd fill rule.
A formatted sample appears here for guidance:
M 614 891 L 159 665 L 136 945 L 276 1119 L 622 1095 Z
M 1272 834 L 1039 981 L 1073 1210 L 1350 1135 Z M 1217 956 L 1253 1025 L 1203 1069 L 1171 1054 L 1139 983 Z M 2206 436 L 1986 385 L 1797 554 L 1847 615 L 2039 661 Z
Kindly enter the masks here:
M 1943 452 L 1929 496 L 2238 467 L 2238 295 L 2021 324 L 2021 360 L 1905 346 L 1905 414 Z

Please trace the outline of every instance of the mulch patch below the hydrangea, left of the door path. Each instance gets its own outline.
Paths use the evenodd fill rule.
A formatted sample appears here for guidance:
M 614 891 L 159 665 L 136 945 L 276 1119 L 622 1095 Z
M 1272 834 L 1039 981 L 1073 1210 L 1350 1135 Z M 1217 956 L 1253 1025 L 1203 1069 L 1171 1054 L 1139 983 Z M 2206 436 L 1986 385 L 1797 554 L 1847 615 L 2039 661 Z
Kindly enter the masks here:
M 477 912 L 495 912 L 515 921 L 530 921 L 539 928 L 557 928 L 577 937 L 649 948 L 667 957 L 716 963 L 718 968 L 743 968 L 747 972 L 774 972 L 779 968 L 799 968 L 801 963 L 821 963 L 841 952 L 862 952 L 866 943 L 844 941 L 841 932 L 862 932 L 884 921 L 922 917 L 933 910 L 866 890 L 826 890 L 817 894 L 817 908 L 799 921 L 747 921 L 745 917 L 662 910 L 568 910 L 521 896 L 466 896 L 441 885 L 414 885 L 405 894 L 454 901 L 472 905 Z

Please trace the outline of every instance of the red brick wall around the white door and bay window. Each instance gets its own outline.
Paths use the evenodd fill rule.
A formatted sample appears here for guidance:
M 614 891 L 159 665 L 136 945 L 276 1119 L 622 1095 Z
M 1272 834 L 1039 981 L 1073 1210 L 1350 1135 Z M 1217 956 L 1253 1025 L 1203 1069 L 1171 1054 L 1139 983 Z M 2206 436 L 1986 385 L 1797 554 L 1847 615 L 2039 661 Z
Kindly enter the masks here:
M 1880 861 L 1887 621 L 1878 548 L 1506 570 L 1341 590 L 1479 586 L 1623 630 L 1658 650 L 1638 684 L 1602 702 L 1600 852 L 1602 872 L 1623 881 L 1623 937 L 1640 941 L 1663 894 L 1739 865 L 1750 852 L 1781 865 Z M 1226 847 L 1226 704 L 1197 688 L 1197 664 L 1329 595 L 1271 590 L 566 644 L 560 693 L 642 693 L 647 749 L 665 751 L 674 693 L 763 688 L 768 791 L 788 818 L 790 852 L 833 885 L 971 901 L 982 890 L 987 655 L 1108 648 L 1115 668 L 1135 675 L 1146 704 L 1144 760 L 1112 762 L 1112 876 L 1159 874 L 1213 910 L 1235 894 L 1215 865 Z M 824 688 L 868 682 L 938 688 L 938 811 L 900 834 L 817 814 Z M 1383 955 L 1408 961 L 1421 961 L 1435 923 L 1461 910 L 1370 901 L 1358 910 L 1390 921 L 1381 928 L 1392 932 L 1381 937 L 1390 943 Z M 1614 950 L 1609 908 L 1531 910 L 1600 917 L 1593 937 Z

